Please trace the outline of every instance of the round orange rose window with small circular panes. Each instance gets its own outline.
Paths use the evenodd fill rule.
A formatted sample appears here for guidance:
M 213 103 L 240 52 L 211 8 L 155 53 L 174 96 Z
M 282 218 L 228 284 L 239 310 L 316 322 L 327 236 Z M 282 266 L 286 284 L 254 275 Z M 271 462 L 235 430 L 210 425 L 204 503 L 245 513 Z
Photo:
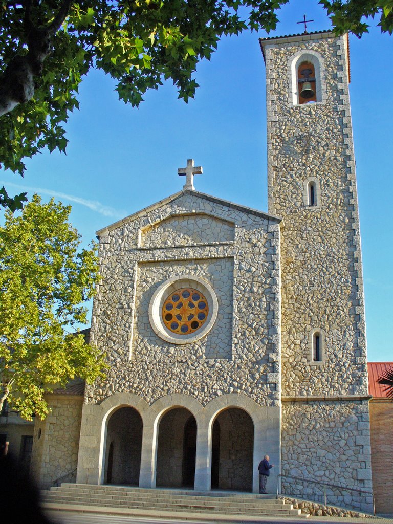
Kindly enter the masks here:
M 162 320 L 172 333 L 186 335 L 198 330 L 209 314 L 208 301 L 193 288 L 172 292 L 162 305 Z

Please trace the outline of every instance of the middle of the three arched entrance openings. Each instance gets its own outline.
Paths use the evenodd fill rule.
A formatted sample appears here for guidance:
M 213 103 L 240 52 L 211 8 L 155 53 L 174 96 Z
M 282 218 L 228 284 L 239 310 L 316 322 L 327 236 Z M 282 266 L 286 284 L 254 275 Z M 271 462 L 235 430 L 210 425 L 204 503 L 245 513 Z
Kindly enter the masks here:
M 157 487 L 194 487 L 196 421 L 188 409 L 173 408 L 161 419 L 157 441 Z

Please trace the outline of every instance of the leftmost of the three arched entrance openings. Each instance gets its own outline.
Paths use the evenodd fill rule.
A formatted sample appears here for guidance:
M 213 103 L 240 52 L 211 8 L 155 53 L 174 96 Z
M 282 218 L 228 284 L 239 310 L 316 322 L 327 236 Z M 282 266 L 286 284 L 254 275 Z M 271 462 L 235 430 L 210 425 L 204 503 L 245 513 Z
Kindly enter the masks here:
M 106 432 L 106 484 L 139 485 L 143 423 L 134 408 L 116 410 Z

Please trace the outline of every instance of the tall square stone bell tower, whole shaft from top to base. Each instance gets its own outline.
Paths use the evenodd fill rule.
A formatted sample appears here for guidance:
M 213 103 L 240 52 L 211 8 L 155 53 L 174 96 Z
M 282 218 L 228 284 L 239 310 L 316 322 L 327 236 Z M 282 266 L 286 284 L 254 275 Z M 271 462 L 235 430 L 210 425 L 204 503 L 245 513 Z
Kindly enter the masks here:
M 371 489 L 348 38 L 322 31 L 260 39 L 260 45 L 268 210 L 283 218 L 283 473 L 318 479 L 323 471 L 325 482 Z M 348 442 L 352 466 L 343 459 L 352 451 L 340 450 Z M 326 456 L 340 462 L 340 471 L 331 470 Z

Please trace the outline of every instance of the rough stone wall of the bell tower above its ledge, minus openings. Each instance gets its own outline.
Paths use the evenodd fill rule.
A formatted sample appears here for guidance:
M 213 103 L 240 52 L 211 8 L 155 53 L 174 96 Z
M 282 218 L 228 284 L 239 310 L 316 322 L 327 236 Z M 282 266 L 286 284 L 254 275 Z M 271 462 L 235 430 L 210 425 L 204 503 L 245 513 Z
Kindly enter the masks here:
M 290 60 L 309 49 L 323 59 L 325 101 L 293 105 Z M 273 41 L 266 49 L 269 212 L 284 222 L 283 396 L 368 393 L 346 57 L 346 37 L 310 35 Z M 311 177 L 320 183 L 314 207 L 303 200 L 304 181 Z M 317 365 L 309 346 L 315 328 L 325 333 L 324 359 Z

